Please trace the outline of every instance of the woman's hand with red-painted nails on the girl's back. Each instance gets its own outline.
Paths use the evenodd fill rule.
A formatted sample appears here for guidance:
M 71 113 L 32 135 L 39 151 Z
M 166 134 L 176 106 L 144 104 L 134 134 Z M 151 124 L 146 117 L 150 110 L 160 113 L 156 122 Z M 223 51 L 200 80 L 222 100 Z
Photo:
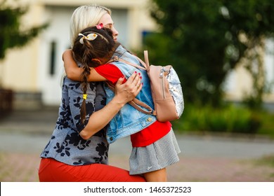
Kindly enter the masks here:
M 124 78 L 119 78 L 115 85 L 115 97 L 124 106 L 124 104 L 136 97 L 142 89 L 143 84 L 138 73 L 133 73 L 124 84 L 122 84 L 123 80 Z

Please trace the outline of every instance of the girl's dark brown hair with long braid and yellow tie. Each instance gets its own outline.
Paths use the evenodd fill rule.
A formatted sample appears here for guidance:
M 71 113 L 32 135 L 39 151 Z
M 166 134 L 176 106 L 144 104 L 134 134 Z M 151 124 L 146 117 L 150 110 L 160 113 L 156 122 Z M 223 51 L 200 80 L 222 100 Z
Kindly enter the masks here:
M 89 40 L 90 36 L 93 40 Z M 81 104 L 81 123 L 86 120 L 86 91 L 88 89 L 87 77 L 91 73 L 90 67 L 96 67 L 107 62 L 115 50 L 115 41 L 112 37 L 112 31 L 107 28 L 98 29 L 97 27 L 88 27 L 81 31 L 74 41 L 72 52 L 74 58 L 81 63 L 84 71 L 81 73 L 81 88 L 83 90 L 83 102 Z

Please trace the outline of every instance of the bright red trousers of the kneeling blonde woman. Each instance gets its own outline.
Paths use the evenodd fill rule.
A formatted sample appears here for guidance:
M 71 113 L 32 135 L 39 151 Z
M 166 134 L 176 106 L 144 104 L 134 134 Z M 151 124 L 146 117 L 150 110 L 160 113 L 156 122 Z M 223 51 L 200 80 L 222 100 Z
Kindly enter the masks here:
M 144 182 L 142 176 L 130 176 L 129 171 L 104 164 L 72 166 L 52 158 L 42 158 L 40 182 Z

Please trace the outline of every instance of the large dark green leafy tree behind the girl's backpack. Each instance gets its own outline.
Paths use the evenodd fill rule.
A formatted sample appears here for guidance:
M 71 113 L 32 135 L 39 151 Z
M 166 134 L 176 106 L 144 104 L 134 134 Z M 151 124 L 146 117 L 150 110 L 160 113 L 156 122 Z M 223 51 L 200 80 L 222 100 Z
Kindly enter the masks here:
M 150 10 L 160 27 L 145 39 L 150 61 L 173 64 L 185 99 L 201 104 L 220 106 L 228 72 L 274 32 L 272 0 L 152 0 Z

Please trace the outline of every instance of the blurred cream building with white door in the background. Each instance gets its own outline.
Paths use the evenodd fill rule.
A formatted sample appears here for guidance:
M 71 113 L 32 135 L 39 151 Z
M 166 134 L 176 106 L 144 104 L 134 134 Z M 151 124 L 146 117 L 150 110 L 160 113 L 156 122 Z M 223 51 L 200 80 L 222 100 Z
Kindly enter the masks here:
M 63 75 L 62 54 L 70 47 L 70 17 L 75 8 L 98 3 L 112 10 L 115 27 L 119 31 L 119 42 L 134 50 L 142 45 L 145 31 L 155 31 L 157 26 L 150 18 L 149 0 L 21 0 L 30 10 L 22 25 L 38 25 L 51 22 L 48 29 L 24 48 L 8 51 L 4 62 L 0 62 L 3 85 L 15 91 L 15 108 L 33 109 L 60 104 L 60 81 Z M 273 45 L 270 45 L 273 48 Z M 274 49 L 274 48 L 273 48 Z M 274 55 L 266 54 L 268 80 L 274 80 Z M 226 90 L 228 99 L 237 101 L 242 92 L 252 87 L 244 69 L 239 68 L 228 77 Z M 274 90 L 272 91 L 274 92 Z M 186 92 L 185 92 L 186 93 Z M 266 97 L 274 102 L 274 94 Z

